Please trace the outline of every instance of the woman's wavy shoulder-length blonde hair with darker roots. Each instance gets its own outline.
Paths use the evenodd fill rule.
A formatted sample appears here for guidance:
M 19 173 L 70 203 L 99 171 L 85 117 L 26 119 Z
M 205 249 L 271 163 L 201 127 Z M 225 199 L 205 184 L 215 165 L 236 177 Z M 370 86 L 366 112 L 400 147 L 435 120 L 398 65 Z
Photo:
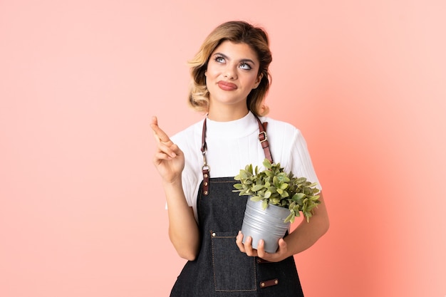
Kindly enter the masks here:
M 209 57 L 223 41 L 246 43 L 256 53 L 259 59 L 259 86 L 252 89 L 247 98 L 247 107 L 254 115 L 266 115 L 269 109 L 264 105 L 264 98 L 271 85 L 271 75 L 268 72 L 272 61 L 269 50 L 269 40 L 266 32 L 245 21 L 228 21 L 209 33 L 198 53 L 189 61 L 192 75 L 192 85 L 189 93 L 190 106 L 199 112 L 207 112 L 209 108 L 209 91 L 206 87 L 206 76 Z

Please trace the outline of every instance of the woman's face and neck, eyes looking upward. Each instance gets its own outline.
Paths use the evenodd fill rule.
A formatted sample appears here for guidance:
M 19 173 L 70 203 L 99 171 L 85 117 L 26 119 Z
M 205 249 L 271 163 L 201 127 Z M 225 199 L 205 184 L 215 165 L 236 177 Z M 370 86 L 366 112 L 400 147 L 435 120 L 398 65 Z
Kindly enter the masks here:
M 259 60 L 246 43 L 224 41 L 209 58 L 206 85 L 209 114 L 212 109 L 242 109 L 247 112 L 247 96 L 260 83 Z

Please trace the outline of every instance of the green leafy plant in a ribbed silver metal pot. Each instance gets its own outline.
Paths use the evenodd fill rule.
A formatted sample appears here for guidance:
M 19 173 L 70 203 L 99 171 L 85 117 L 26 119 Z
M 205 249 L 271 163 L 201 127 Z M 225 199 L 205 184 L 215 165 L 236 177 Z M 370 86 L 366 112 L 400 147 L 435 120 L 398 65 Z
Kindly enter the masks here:
M 234 192 L 239 192 L 240 196 L 251 196 L 242 225 L 244 239 L 251 236 L 254 249 L 258 241 L 264 239 L 265 251 L 274 253 L 290 222 L 294 222 L 301 213 L 309 222 L 313 209 L 321 202 L 315 182 L 284 172 L 280 163 L 265 159 L 263 165 L 263 171 L 258 167 L 253 170 L 252 165 L 240 170 L 234 177 L 239 181 L 234 184 Z

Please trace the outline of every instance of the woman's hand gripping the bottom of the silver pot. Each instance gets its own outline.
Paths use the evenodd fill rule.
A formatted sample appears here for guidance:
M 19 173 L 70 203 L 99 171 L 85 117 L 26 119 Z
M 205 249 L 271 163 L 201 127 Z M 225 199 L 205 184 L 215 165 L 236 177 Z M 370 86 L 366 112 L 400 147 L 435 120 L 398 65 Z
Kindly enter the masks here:
M 265 251 L 264 247 L 265 242 L 263 239 L 259 241 L 257 249 L 252 248 L 251 236 L 248 236 L 247 240 L 244 241 L 244 243 L 242 242 L 242 240 L 243 240 L 243 234 L 242 231 L 239 231 L 239 234 L 237 235 L 237 239 L 235 242 L 239 247 L 240 251 L 246 253 L 248 256 L 258 256 L 259 258 L 270 262 L 279 262 L 290 256 L 287 252 L 288 249 L 286 241 L 284 241 L 284 239 L 279 239 L 279 249 L 277 249 L 277 251 L 274 254 L 267 253 Z

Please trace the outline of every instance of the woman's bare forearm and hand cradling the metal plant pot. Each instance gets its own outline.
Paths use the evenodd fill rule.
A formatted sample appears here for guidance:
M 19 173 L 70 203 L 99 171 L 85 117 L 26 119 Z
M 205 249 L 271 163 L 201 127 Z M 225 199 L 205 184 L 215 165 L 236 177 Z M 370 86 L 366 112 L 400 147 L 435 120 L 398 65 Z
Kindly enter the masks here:
M 248 256 L 259 256 L 266 261 L 278 262 L 308 249 L 323 234 L 326 234 L 330 226 L 323 195 L 322 193 L 320 195 L 321 204 L 314 210 L 310 222 L 306 222 L 306 219 L 304 219 L 288 236 L 279 239 L 279 249 L 275 254 L 264 251 L 263 241 L 260 241 L 258 249 L 252 249 L 250 237 L 245 241 L 245 244 L 242 244 L 243 234 L 241 233 L 237 236 L 236 241 L 240 251 L 247 253 Z

